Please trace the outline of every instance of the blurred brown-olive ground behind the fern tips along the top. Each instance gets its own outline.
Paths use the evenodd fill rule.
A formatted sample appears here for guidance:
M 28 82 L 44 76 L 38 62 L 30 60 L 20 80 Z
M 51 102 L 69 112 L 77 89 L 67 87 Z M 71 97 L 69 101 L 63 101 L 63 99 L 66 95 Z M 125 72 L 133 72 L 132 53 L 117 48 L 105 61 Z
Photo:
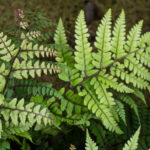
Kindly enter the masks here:
M 44 12 L 55 23 L 62 17 L 69 31 L 74 29 L 74 21 L 81 9 L 86 9 L 88 15 L 90 11 L 94 12 L 94 18 L 88 23 L 95 31 L 99 19 L 108 8 L 112 8 L 113 19 L 123 8 L 126 12 L 127 29 L 141 19 L 144 20 L 143 31 L 150 29 L 150 0 L 0 0 L 1 31 L 14 26 L 13 12 L 18 8 Z

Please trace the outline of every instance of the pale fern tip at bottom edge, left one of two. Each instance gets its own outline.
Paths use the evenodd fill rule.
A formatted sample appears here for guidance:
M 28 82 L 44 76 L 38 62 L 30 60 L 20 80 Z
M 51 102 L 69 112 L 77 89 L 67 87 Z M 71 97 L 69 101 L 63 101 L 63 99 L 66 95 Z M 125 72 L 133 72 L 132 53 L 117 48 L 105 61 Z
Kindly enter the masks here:
M 86 150 L 98 150 L 98 146 L 96 143 L 91 139 L 88 130 L 86 130 Z

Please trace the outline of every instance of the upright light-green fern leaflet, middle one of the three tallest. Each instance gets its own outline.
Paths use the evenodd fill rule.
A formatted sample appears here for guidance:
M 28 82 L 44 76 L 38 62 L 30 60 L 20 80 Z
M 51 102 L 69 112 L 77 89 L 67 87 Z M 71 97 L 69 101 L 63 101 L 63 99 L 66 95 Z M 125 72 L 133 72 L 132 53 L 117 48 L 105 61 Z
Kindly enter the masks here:
M 111 10 L 109 9 L 101 21 L 96 33 L 95 47 L 98 53 L 93 53 L 93 65 L 96 68 L 104 68 L 111 61 Z

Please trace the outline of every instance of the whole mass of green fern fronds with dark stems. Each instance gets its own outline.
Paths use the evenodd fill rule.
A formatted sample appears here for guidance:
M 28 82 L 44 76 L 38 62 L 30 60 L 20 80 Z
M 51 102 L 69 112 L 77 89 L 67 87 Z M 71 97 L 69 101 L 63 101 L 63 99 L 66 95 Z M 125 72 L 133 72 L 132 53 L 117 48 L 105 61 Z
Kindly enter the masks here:
M 128 131 L 129 135 L 139 125 L 143 130 L 140 109 L 135 101 L 140 99 L 140 103 L 146 105 L 142 91 L 150 91 L 150 33 L 141 34 L 143 21 L 139 21 L 126 34 L 124 11 L 112 28 L 109 9 L 98 26 L 95 42 L 90 43 L 81 10 L 75 23 L 73 47 L 67 42 L 61 19 L 54 34 L 54 43 L 47 45 L 38 44 L 37 38 L 42 36 L 42 32 L 38 28 L 30 31 L 24 17 L 21 10 L 16 11 L 19 28 L 17 41 L 0 33 L 2 140 L 14 140 L 15 134 L 32 141 L 30 129 L 50 133 L 52 125 L 61 129 L 64 124 L 83 130 L 90 127 L 100 139 L 95 132 L 98 124 L 102 135 L 106 136 L 107 132 L 118 140 L 124 140 L 130 124 L 127 105 L 136 118 L 136 125 L 131 133 Z M 56 59 L 49 61 L 51 57 Z M 53 73 L 58 73 L 58 82 L 62 81 L 62 86 L 57 81 L 54 85 L 38 82 L 39 77 Z M 55 87 L 56 83 L 58 87 Z M 124 149 L 129 149 L 132 143 L 134 149 L 137 147 L 139 130 Z M 122 135 L 123 138 L 120 138 Z M 100 140 L 98 144 L 103 146 L 104 141 Z M 86 149 L 91 146 L 98 149 L 87 131 Z

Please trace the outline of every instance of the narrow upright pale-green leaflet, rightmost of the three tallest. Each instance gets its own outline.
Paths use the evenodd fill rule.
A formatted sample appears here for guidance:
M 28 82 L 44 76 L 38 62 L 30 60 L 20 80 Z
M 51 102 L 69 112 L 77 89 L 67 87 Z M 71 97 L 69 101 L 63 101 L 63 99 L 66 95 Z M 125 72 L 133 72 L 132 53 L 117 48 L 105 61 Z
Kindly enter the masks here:
M 113 58 L 117 59 L 125 55 L 125 14 L 122 10 L 119 18 L 116 20 L 113 29 L 112 52 Z

